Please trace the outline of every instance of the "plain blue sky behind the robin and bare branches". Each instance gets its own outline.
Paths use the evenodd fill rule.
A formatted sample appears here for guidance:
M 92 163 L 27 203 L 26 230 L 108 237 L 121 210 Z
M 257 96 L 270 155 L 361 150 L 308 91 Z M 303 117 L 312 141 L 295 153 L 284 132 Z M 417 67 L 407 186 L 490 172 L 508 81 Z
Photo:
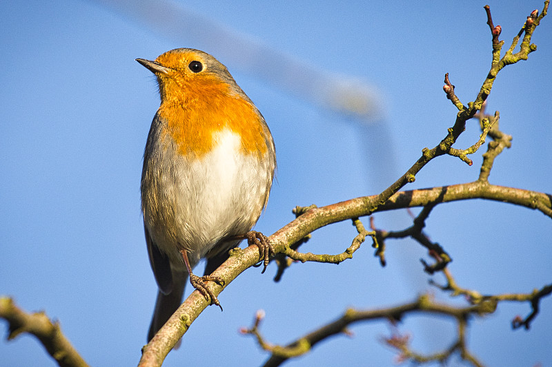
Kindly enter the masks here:
M 457 110 L 442 91 L 450 73 L 466 104 L 491 64 L 484 2 L 2 1 L 0 52 L 0 294 L 61 322 L 92 366 L 132 366 L 141 355 L 157 286 L 150 271 L 139 204 L 142 154 L 159 106 L 155 78 L 134 60 L 197 48 L 224 63 L 273 132 L 278 171 L 255 229 L 270 234 L 296 205 L 319 206 L 379 193 L 453 125 Z M 504 50 L 542 1 L 489 1 Z M 529 61 L 499 74 L 488 111 L 513 146 L 496 160 L 491 182 L 552 191 L 550 60 L 552 17 L 544 18 Z M 469 123 L 455 147 L 479 136 Z M 475 180 L 482 150 L 468 167 L 442 157 L 407 189 Z M 414 209 L 417 213 L 419 209 Z M 406 212 L 377 213 L 377 227 L 403 229 Z M 364 224 L 368 226 L 368 218 Z M 528 293 L 551 282 L 550 218 L 482 200 L 440 205 L 426 233 L 453 258 L 461 286 L 481 293 Z M 313 233 L 302 249 L 339 253 L 351 222 Z M 286 344 L 331 322 L 348 307 L 393 306 L 430 291 L 426 251 L 389 241 L 382 268 L 369 243 L 339 266 L 294 264 L 249 269 L 191 326 L 164 366 L 256 366 L 268 357 L 239 335 L 259 308 L 262 333 Z M 198 273 L 202 273 L 199 264 Z M 440 275 L 435 281 L 443 282 Z M 188 286 L 188 293 L 190 291 Z M 254 290 L 254 291 L 253 291 Z M 451 300 L 463 304 L 462 300 Z M 529 304 L 500 304 L 474 319 L 469 348 L 490 366 L 552 365 L 552 300 L 530 331 L 511 330 Z M 447 348 L 455 325 L 408 316 L 400 325 L 413 348 Z M 327 340 L 290 366 L 393 366 L 381 342 L 393 328 L 371 322 L 352 337 Z M 5 322 L 0 333 L 6 334 Z M 55 366 L 34 337 L 2 339 L 5 366 Z M 451 360 L 451 366 L 460 365 Z

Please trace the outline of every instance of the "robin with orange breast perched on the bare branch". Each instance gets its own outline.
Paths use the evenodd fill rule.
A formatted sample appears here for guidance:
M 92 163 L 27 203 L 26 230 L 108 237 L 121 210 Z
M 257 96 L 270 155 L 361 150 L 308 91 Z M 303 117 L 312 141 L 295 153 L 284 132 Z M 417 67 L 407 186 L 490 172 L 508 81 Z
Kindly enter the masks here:
M 153 118 L 141 177 L 148 255 L 159 292 L 148 340 L 192 286 L 220 306 L 206 282 L 244 238 L 264 260 L 273 249 L 251 231 L 268 201 L 274 141 L 264 117 L 210 54 L 178 48 L 155 61 L 136 59 L 157 76 L 161 105 Z M 203 277 L 192 273 L 207 259 Z

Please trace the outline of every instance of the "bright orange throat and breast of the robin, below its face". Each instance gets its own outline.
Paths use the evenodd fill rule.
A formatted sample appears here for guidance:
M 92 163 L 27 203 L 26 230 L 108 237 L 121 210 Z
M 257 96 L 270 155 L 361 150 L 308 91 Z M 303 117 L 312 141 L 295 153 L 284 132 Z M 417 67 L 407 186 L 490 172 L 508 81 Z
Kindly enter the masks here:
M 167 123 L 165 134 L 175 141 L 181 154 L 199 157 L 208 153 L 216 145 L 215 134 L 224 129 L 242 138 L 243 154 L 259 158 L 266 154 L 262 116 L 228 84 L 216 78 L 178 84 L 174 87 L 181 93 L 162 101 L 158 114 Z

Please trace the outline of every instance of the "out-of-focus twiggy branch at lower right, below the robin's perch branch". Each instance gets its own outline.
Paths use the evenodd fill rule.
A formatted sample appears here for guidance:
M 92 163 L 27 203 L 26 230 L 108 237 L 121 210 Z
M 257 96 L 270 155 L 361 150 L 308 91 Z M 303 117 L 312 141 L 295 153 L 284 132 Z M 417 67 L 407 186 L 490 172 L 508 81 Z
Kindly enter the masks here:
M 509 293 L 504 295 L 481 295 L 477 291 L 470 291 L 457 286 L 448 269 L 444 269 L 443 273 L 446 275 L 449 282 L 446 286 L 439 286 L 434 282 L 431 282 L 431 284 L 444 291 L 452 291 L 452 296 L 465 295 L 466 300 L 471 302 L 471 306 L 455 307 L 448 304 L 440 304 L 433 301 L 428 295 L 422 295 L 415 302 L 404 304 L 402 306 L 380 308 L 370 311 L 355 311 L 353 309 L 348 309 L 342 317 L 339 317 L 339 319 L 334 322 L 321 326 L 320 328 L 317 328 L 317 330 L 299 337 L 295 340 L 295 342 L 291 342 L 286 346 L 270 344 L 264 339 L 264 337 L 262 337 L 259 332 L 259 325 L 264 318 L 264 311 L 259 311 L 257 312 L 253 326 L 251 328 L 242 328 L 242 333 L 253 335 L 257 339 L 259 346 L 272 354 L 265 362 L 264 367 L 275 367 L 281 365 L 287 359 L 299 357 L 300 355 L 310 352 L 317 343 L 324 339 L 328 339 L 329 337 L 339 335 L 341 333 L 348 333 L 347 327 L 357 322 L 366 322 L 373 319 L 385 318 L 395 323 L 401 321 L 402 317 L 408 313 L 433 313 L 446 315 L 456 319 L 458 328 L 457 339 L 455 342 L 453 342 L 449 348 L 446 348 L 440 352 L 432 353 L 431 355 L 422 355 L 413 351 L 408 345 L 410 339 L 408 335 L 400 335 L 395 333 L 393 336 L 384 339 L 384 342 L 388 346 L 391 346 L 400 352 L 400 355 L 397 357 L 397 361 L 413 361 L 418 364 L 431 361 L 444 363 L 457 352 L 460 354 L 462 359 L 473 364 L 473 366 L 479 367 L 483 366 L 482 362 L 480 362 L 475 355 L 469 351 L 466 344 L 466 326 L 469 318 L 473 315 L 482 316 L 493 313 L 500 302 L 531 302 L 533 312 L 526 317 L 526 319 L 522 319 L 518 316 L 515 317 L 512 322 L 513 328 L 519 328 L 521 326 L 529 328 L 529 322 L 531 322 L 531 319 L 533 319 L 533 317 L 535 317 L 538 313 L 540 300 L 552 293 L 552 284 L 549 284 L 544 286 L 540 291 L 535 290 L 532 293 L 526 294 Z

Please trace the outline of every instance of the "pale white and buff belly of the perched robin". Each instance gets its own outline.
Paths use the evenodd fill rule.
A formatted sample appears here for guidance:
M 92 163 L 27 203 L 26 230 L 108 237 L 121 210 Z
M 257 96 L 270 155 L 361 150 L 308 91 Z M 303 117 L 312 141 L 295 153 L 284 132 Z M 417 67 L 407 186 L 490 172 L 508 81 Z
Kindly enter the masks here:
M 144 208 L 144 219 L 172 264 L 181 262 L 179 250 L 186 249 L 194 266 L 219 241 L 249 231 L 264 207 L 273 167 L 244 154 L 241 138 L 230 130 L 215 140 L 215 148 L 199 158 L 182 156 L 174 145 L 159 147 L 163 168 L 150 186 L 154 201 L 164 206 Z

